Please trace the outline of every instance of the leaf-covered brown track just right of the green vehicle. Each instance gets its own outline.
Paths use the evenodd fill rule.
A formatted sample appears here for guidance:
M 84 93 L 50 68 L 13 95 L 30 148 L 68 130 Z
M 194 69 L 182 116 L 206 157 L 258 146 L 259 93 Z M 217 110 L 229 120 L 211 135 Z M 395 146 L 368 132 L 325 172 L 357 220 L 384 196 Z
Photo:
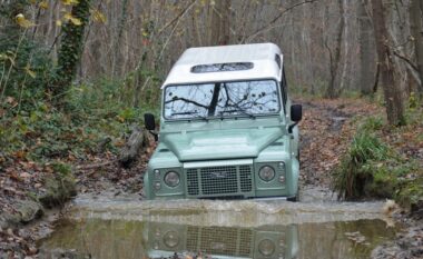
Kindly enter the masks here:
M 329 187 L 331 171 L 341 162 L 355 132 L 350 120 L 354 116 L 376 113 L 378 108 L 360 100 L 296 101 L 304 106 L 299 126 L 301 178 L 307 185 Z M 340 118 L 342 124 L 337 127 Z

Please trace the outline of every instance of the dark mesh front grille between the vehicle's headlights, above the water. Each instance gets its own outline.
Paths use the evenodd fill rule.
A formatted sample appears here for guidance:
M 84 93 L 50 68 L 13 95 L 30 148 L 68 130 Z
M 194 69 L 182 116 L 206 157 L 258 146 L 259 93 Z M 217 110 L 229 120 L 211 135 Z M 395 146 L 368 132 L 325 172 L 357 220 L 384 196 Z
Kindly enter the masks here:
M 252 166 L 225 166 L 187 169 L 188 196 L 218 197 L 253 191 Z

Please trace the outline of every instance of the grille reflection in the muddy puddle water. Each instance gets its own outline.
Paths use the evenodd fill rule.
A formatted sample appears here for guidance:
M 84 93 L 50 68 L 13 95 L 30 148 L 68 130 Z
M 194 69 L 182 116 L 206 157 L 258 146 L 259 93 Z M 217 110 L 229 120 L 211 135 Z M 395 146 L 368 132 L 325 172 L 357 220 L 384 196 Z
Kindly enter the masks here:
M 233 257 L 252 255 L 253 231 L 224 227 L 188 227 L 187 250 Z

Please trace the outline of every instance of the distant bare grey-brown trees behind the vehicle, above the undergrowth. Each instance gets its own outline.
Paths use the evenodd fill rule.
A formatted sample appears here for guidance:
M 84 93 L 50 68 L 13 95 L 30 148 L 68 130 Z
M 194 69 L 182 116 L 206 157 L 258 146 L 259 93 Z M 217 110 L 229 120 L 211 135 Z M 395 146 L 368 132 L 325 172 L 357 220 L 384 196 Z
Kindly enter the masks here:
M 14 33 L 35 44 L 24 57 L 16 57 L 20 63 L 27 61 L 37 70 L 42 66 L 37 59 L 43 58 L 57 64 L 63 38 L 63 26 L 58 24 L 69 20 L 66 14 L 71 13 L 72 2 L 1 1 L 1 38 Z M 335 98 L 377 90 L 376 42 L 367 0 L 81 2 L 87 2 L 89 20 L 82 24 L 82 52 L 73 83 L 96 88 L 106 80 L 110 88 L 120 89 L 117 98 L 128 107 L 155 106 L 158 87 L 180 53 L 189 47 L 214 44 L 275 42 L 285 54 L 293 91 Z M 422 89 L 421 4 L 419 0 L 384 1 L 394 80 L 405 99 Z M 33 24 L 16 28 L 11 22 L 19 13 Z M 4 40 L 0 50 L 3 56 L 13 52 L 4 48 Z M 79 56 L 78 50 L 70 54 Z M 3 66 L 8 70 L 8 59 Z M 19 87 L 10 81 L 1 84 L 9 92 Z

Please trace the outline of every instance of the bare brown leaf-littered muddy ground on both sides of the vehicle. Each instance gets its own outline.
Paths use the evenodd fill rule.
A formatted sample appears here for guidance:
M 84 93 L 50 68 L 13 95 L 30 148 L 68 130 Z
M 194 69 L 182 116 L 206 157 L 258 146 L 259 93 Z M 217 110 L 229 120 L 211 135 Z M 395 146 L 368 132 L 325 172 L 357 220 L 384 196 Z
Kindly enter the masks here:
M 357 118 L 380 116 L 381 107 L 357 99 L 314 100 L 296 99 L 304 106 L 304 119 L 301 122 L 301 200 L 325 199 L 336 200 L 332 191 L 333 170 L 341 163 L 356 132 Z M 422 136 L 423 127 L 411 128 L 401 136 L 395 135 L 396 141 L 405 141 L 414 136 Z M 415 158 L 422 158 L 423 143 L 417 141 L 403 145 L 402 151 Z M 76 192 L 101 192 L 120 196 L 122 193 L 141 193 L 142 178 L 154 143 L 141 155 L 139 161 L 130 169 L 119 167 L 117 156 L 112 152 L 90 156 L 88 161 L 68 159 L 71 165 Z M 16 156 L 6 161 L 0 168 L 0 259 L 3 258 L 39 258 L 37 240 L 51 233 L 55 222 L 67 211 L 67 202 L 52 205 L 56 209 L 47 209 L 33 197 L 49 192 L 46 178 L 53 178 L 58 171 L 57 165 L 38 165 L 37 162 Z M 0 160 L 1 162 L 1 160 Z M 60 171 L 60 168 L 59 168 Z M 66 175 L 65 169 L 63 175 Z M 60 187 L 59 187 L 60 189 Z M 67 191 L 67 188 L 65 188 Z M 312 195 L 309 195 L 312 193 Z M 65 198 L 63 198 L 65 199 Z M 139 199 L 142 199 L 139 196 Z M 57 207 L 58 206 L 58 207 Z M 48 207 L 48 206 L 47 206 Z M 419 258 L 423 256 L 423 229 L 421 218 L 410 218 L 407 212 L 396 209 L 392 215 L 404 223 L 393 243 L 384 245 L 374 251 L 374 258 Z M 420 223 L 420 225 L 419 225 Z M 412 255 L 412 253 L 415 255 Z

